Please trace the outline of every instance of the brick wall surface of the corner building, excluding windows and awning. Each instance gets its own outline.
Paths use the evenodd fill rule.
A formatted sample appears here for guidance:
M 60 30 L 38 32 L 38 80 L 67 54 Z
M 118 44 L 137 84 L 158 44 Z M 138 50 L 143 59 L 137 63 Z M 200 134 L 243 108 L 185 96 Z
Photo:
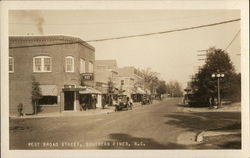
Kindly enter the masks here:
M 15 39 L 18 40 L 18 39 Z M 12 43 L 10 39 L 10 43 Z M 32 44 L 32 43 L 31 43 Z M 43 112 L 54 112 L 63 109 L 63 91 L 64 85 L 80 84 L 80 58 L 86 61 L 95 61 L 94 50 L 82 44 L 65 44 L 11 48 L 9 56 L 14 57 L 14 73 L 9 74 L 10 87 L 10 115 L 17 115 L 17 105 L 23 103 L 24 112 L 32 113 L 31 104 L 31 86 L 32 76 L 35 77 L 41 85 L 56 85 L 60 100 L 57 106 L 43 107 Z M 52 72 L 33 72 L 33 57 L 49 56 L 52 58 Z M 74 57 L 75 72 L 65 72 L 65 57 Z M 86 63 L 86 68 L 88 64 Z M 94 81 L 88 81 L 86 84 L 93 86 Z

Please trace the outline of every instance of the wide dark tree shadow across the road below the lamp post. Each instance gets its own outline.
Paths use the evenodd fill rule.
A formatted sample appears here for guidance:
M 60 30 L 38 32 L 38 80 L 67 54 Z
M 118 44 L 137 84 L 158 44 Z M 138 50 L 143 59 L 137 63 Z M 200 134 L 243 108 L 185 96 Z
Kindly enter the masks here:
M 188 131 L 241 129 L 240 112 L 171 113 L 164 117 L 170 118 L 165 124 Z

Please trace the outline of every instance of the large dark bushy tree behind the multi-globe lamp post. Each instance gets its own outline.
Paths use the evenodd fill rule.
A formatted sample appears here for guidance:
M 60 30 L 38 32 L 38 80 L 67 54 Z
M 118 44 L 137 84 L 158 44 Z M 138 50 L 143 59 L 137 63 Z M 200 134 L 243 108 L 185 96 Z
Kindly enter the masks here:
M 209 48 L 205 64 L 199 72 L 195 74 L 191 82 L 192 91 L 194 93 L 193 100 L 198 104 L 208 104 L 208 98 L 217 96 L 217 78 L 212 78 L 213 73 L 223 73 L 224 78 L 220 79 L 220 90 L 222 98 L 230 98 L 234 92 L 234 86 L 240 87 L 239 76 L 235 73 L 234 66 L 229 55 L 214 47 Z

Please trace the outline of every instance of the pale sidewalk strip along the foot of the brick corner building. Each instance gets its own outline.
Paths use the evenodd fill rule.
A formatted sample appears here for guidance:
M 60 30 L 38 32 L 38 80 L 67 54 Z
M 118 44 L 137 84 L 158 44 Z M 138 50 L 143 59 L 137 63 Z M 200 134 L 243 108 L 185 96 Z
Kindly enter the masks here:
M 26 118 L 48 118 L 48 117 L 72 117 L 72 116 L 91 116 L 100 114 L 109 114 L 115 111 L 114 106 L 108 106 L 104 109 L 96 108 L 89 109 L 86 111 L 63 111 L 63 112 L 52 112 L 52 113 L 39 113 L 37 115 L 26 115 L 26 116 L 10 116 L 12 119 L 26 119 Z

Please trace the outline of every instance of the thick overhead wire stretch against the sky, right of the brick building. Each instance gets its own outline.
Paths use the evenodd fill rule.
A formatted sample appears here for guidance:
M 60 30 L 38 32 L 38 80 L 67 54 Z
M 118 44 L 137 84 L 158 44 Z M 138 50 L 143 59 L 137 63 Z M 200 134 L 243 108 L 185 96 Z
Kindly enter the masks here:
M 113 38 L 103 38 L 103 39 L 96 39 L 96 40 L 88 40 L 86 42 L 101 42 L 101 41 L 108 41 L 108 40 L 117 40 L 117 39 L 133 38 L 133 37 L 151 36 L 151 35 L 157 35 L 157 34 L 166 34 L 166 33 L 186 31 L 186 30 L 194 30 L 194 29 L 203 28 L 203 27 L 222 25 L 222 24 L 232 23 L 232 22 L 236 22 L 236 21 L 240 21 L 240 18 L 239 19 L 222 21 L 222 22 L 217 22 L 217 23 L 212 23 L 212 24 L 198 25 L 198 26 L 193 26 L 193 27 L 186 27 L 186 28 L 181 28 L 181 29 L 173 29 L 173 30 L 168 30 L 168 31 L 160 31 L 160 32 L 137 34 L 137 35 L 120 36 L 120 37 L 113 37 Z

